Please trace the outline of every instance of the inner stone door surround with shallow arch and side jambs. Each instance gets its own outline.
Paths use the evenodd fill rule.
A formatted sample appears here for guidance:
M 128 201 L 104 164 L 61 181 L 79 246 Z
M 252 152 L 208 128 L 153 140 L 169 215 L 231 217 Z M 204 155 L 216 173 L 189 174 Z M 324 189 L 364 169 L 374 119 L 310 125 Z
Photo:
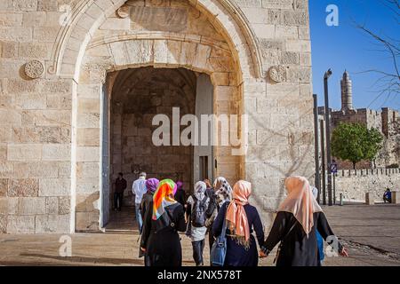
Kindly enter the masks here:
M 194 8 L 191 6 L 188 9 Z M 204 15 L 200 11 L 198 13 Z M 219 17 L 223 15 L 221 13 Z M 214 90 L 214 114 L 244 112 L 242 97 L 250 81 L 244 83 L 242 80 L 252 74 L 252 66 L 248 64 L 251 56 L 245 52 L 248 56 L 238 57 L 237 51 L 248 46 L 243 42 L 232 50 L 231 40 L 226 40 L 206 16 L 200 17 L 198 22 L 201 23 L 201 20 L 207 27 L 214 28 L 215 35 L 219 36 L 212 38 L 168 31 L 120 30 L 108 33 L 107 29 L 105 33 L 104 29 L 95 32 L 89 28 L 89 34 L 85 37 L 88 43 L 84 45 L 84 50 L 77 53 L 65 50 L 62 64 L 71 62 L 70 72 L 67 73 L 74 78 L 71 146 L 73 230 L 97 231 L 100 228 L 100 118 L 104 103 L 101 93 L 109 72 L 147 66 L 184 67 L 210 75 Z M 62 67 L 60 70 L 63 70 Z M 244 177 L 244 157 L 233 156 L 230 146 L 217 146 L 214 154 L 218 160 L 217 175 L 223 175 L 231 181 Z

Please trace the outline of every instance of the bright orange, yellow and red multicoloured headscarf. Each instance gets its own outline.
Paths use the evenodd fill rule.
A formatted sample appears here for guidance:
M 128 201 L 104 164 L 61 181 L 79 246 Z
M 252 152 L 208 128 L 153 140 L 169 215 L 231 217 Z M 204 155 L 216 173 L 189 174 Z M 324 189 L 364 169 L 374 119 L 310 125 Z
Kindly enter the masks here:
M 165 207 L 176 203 L 171 197 L 176 192 L 176 184 L 172 179 L 163 179 L 158 184 L 153 196 L 153 220 L 158 220 L 165 212 Z

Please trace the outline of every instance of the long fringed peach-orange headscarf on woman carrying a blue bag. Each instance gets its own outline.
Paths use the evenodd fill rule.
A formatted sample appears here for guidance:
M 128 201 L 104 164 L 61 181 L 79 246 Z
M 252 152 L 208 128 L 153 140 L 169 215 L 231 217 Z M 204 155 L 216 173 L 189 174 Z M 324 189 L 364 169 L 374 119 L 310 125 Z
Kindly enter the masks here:
M 252 184 L 239 180 L 233 188 L 233 199 L 227 209 L 228 229 L 236 240 L 248 248 L 250 246 L 250 227 L 244 205 L 249 203 L 252 194 Z

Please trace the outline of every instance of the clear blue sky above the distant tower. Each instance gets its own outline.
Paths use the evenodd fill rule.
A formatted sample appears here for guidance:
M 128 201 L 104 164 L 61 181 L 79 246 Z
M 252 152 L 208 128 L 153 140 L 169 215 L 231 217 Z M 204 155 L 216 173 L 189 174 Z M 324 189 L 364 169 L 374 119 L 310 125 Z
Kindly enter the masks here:
M 381 75 L 365 73 L 378 69 L 393 74 L 394 64 L 388 53 L 372 37 L 356 28 L 364 24 L 380 36 L 399 38 L 400 28 L 395 14 L 384 4 L 385 0 L 309 0 L 313 88 L 318 105 L 324 105 L 324 73 L 332 68 L 329 79 L 330 106 L 340 109 L 340 78 L 345 69 L 353 82 L 353 106 L 380 109 L 400 109 L 400 95 L 380 96 Z M 326 7 L 335 4 L 339 12 L 339 25 L 329 27 Z M 398 19 L 397 19 L 398 20 Z

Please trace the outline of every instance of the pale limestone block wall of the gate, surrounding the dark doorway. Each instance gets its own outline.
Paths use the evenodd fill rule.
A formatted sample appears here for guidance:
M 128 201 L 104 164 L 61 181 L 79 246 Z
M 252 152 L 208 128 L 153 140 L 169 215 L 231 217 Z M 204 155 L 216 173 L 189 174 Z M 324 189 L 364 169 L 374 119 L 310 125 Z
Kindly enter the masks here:
M 101 88 L 143 66 L 207 73 L 216 114 L 249 114 L 216 174 L 250 180 L 268 224 L 284 177 L 313 173 L 308 1 L 125 2 L 0 1 L 0 233 L 99 230 Z

